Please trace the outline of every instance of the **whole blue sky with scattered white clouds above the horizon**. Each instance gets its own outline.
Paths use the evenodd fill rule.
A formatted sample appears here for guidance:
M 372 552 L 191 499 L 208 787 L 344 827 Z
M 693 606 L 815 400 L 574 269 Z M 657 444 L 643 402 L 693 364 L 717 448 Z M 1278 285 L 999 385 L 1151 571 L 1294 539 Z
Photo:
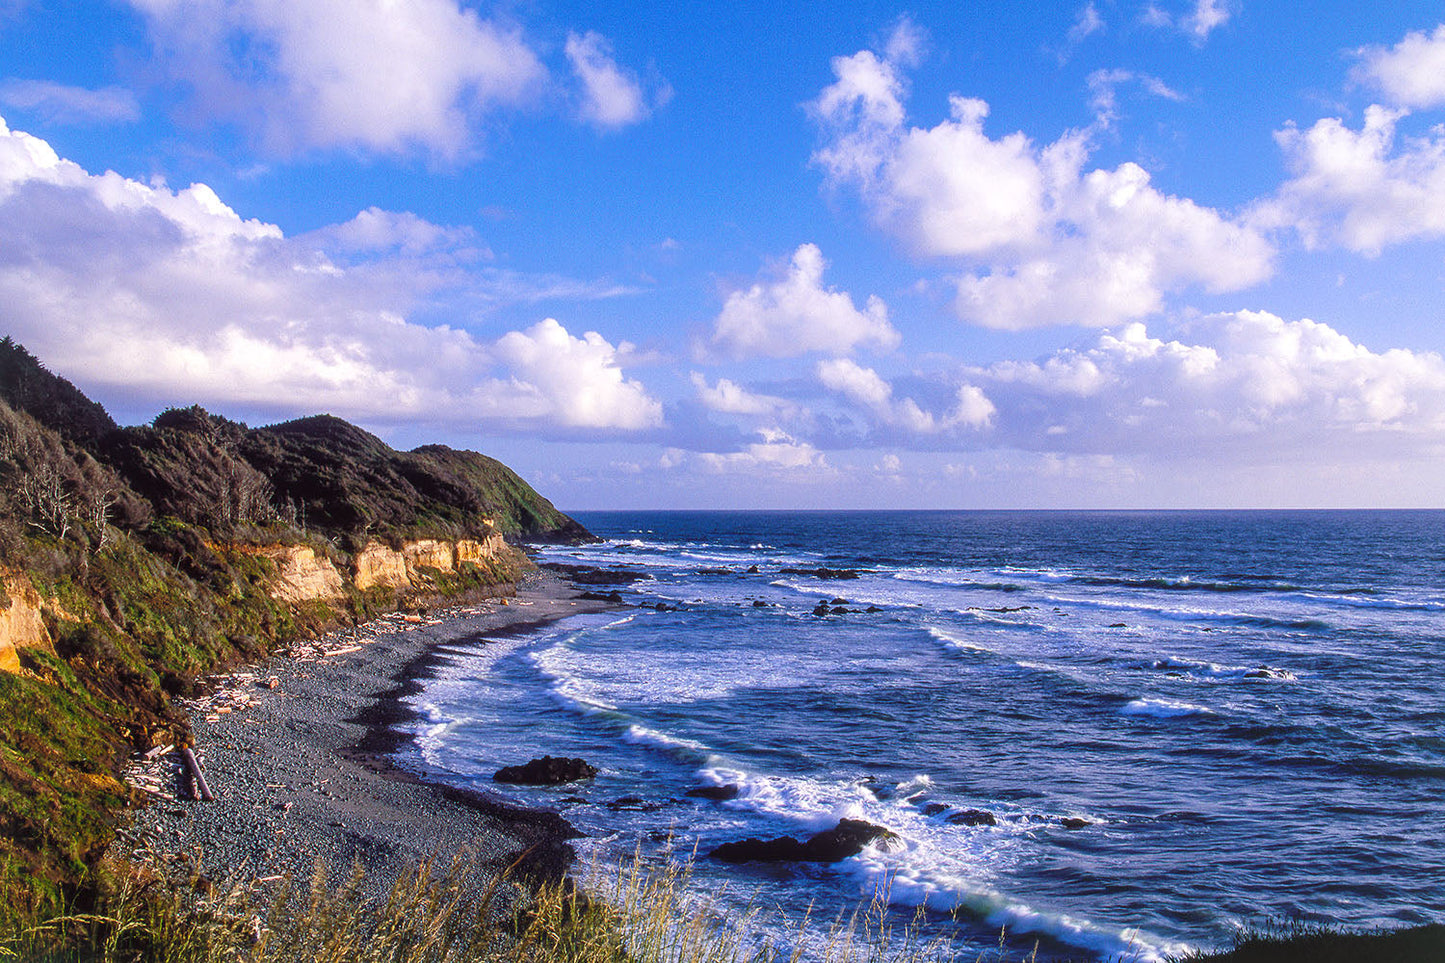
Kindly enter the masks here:
M 1445 9 L 0 0 L 0 334 L 558 506 L 1445 508 Z

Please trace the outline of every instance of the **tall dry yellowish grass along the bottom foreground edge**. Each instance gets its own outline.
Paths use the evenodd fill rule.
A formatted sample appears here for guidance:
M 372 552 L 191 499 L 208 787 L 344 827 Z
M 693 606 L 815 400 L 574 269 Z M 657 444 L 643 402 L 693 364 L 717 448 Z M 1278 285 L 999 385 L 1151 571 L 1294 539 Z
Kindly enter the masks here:
M 110 865 L 95 907 L 0 908 L 0 960 L 36 963 L 1006 963 L 961 957 L 894 925 L 886 895 L 853 915 L 795 921 L 785 944 L 689 886 L 688 865 L 634 859 L 538 889 L 474 860 L 422 863 L 384 895 L 358 866 L 335 879 L 228 886 Z M 1029 963 L 1030 957 L 1019 963 Z

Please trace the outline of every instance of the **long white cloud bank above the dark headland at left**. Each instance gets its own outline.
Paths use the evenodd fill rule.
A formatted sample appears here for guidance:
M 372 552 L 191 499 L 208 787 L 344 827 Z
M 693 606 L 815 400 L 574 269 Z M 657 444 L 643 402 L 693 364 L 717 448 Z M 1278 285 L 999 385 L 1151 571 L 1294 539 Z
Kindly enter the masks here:
M 441 269 L 403 250 L 460 237 L 415 215 L 364 211 L 329 236 L 292 239 L 202 184 L 91 175 L 0 121 L 0 234 L 7 334 L 134 403 L 462 428 L 630 431 L 662 419 L 621 372 L 630 346 L 572 337 L 552 320 L 496 341 L 409 320 L 458 283 L 454 257 Z M 364 256 L 341 257 L 347 247 Z

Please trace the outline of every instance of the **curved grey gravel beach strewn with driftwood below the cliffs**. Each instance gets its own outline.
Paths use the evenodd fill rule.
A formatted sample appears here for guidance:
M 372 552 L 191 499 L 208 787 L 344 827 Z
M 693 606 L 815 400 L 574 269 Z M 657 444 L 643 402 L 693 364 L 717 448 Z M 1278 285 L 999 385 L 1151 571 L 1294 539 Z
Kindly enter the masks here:
M 605 607 L 542 571 L 516 597 L 396 613 L 217 677 L 188 703 L 215 800 L 178 798 L 175 753 L 137 759 L 127 779 L 152 801 L 118 846 L 137 859 L 189 863 L 217 882 L 305 881 L 318 865 L 345 876 L 360 866 L 374 881 L 366 888 L 380 892 L 419 860 L 447 866 L 455 855 L 556 878 L 575 836 L 562 817 L 397 769 L 392 750 L 407 736 L 393 724 L 409 717 L 400 697 L 449 651 Z

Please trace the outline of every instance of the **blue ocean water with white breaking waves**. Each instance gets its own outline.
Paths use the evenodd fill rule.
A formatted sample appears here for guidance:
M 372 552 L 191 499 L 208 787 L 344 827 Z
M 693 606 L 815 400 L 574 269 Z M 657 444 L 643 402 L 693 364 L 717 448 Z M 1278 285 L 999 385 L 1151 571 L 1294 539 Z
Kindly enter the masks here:
M 647 575 L 639 607 L 458 656 L 415 698 L 416 763 L 493 789 L 587 758 L 588 784 L 507 792 L 594 855 L 695 850 L 764 928 L 881 888 L 929 936 L 1007 927 L 1040 959 L 1445 921 L 1442 512 L 578 518 L 605 541 L 542 560 Z M 858 577 L 782 571 L 822 567 Z M 705 856 L 841 817 L 902 842 Z

